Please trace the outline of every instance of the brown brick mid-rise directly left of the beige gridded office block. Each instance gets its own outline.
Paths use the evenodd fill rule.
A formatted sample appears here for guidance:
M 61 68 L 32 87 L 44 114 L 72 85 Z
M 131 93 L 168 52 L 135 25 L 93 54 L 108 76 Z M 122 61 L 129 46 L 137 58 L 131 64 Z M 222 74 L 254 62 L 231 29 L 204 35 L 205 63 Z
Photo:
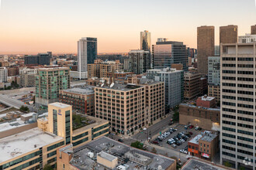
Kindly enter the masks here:
M 72 88 L 60 90 L 60 102 L 70 104 L 78 113 L 94 115 L 94 90 L 92 88 Z

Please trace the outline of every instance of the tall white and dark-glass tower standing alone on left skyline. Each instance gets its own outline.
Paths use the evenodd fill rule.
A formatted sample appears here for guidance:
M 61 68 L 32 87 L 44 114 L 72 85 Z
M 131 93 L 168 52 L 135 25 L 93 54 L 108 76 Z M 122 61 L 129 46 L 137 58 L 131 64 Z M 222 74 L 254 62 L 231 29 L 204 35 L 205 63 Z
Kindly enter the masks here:
M 97 56 L 97 38 L 85 37 L 78 41 L 78 73 L 87 72 L 87 64 L 94 63 Z

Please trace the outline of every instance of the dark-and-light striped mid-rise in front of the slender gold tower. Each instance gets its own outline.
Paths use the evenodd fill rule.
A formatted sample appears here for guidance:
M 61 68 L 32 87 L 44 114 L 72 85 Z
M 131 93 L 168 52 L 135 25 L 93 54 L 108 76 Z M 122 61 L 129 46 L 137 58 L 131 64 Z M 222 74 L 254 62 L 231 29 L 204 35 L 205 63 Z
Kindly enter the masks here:
M 130 50 L 129 71 L 141 74 L 150 70 L 150 52 L 144 50 Z

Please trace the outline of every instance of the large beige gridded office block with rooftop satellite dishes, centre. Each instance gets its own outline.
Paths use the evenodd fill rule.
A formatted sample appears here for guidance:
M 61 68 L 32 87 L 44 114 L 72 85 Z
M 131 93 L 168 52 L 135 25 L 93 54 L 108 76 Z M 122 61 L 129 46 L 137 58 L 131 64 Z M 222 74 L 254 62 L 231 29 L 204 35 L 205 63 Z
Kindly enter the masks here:
M 164 115 L 164 83 L 114 83 L 95 87 L 95 117 L 110 122 L 111 131 L 130 134 Z

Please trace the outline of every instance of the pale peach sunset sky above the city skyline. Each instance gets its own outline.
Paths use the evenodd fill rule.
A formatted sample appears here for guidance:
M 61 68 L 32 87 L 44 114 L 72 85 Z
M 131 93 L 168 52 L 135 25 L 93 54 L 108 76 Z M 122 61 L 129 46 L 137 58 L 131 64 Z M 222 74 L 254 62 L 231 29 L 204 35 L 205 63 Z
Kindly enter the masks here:
M 140 48 L 140 32 L 196 48 L 196 28 L 256 24 L 255 0 L 0 0 L 0 54 L 77 53 L 81 37 L 98 38 L 98 53 Z

